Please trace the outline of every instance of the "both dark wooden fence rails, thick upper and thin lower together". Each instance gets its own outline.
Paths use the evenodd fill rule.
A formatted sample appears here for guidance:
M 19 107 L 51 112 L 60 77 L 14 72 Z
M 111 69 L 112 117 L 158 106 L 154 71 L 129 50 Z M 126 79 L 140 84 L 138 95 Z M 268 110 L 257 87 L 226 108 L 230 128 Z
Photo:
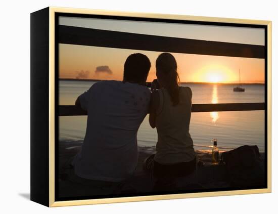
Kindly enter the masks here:
M 146 35 L 65 25 L 59 25 L 58 37 L 60 44 L 212 56 L 259 59 L 265 58 L 265 47 L 258 45 Z M 265 103 L 221 103 L 192 105 L 192 112 L 252 111 L 264 109 Z M 77 116 L 87 115 L 87 112 L 75 106 L 62 105 L 59 106 L 58 114 L 59 116 Z

